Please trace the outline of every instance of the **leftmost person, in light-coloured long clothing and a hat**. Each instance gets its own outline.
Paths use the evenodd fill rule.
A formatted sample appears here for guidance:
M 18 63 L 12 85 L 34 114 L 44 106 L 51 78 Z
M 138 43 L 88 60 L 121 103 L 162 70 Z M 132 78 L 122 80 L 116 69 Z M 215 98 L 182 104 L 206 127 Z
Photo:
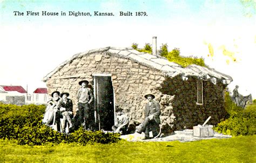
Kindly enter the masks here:
M 59 91 L 54 91 L 51 93 L 52 99 L 48 101 L 48 106 L 45 109 L 43 123 L 46 125 L 50 125 L 52 123 L 52 127 L 57 124 L 57 131 L 60 131 L 60 121 L 59 121 Z

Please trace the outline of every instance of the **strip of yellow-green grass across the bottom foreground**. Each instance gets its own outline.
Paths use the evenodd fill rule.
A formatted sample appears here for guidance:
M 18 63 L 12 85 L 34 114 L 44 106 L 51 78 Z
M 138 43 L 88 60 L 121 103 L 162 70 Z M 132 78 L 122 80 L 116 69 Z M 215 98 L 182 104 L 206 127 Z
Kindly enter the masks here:
M 0 140 L 1 162 L 256 162 L 256 135 L 193 142 L 20 146 Z

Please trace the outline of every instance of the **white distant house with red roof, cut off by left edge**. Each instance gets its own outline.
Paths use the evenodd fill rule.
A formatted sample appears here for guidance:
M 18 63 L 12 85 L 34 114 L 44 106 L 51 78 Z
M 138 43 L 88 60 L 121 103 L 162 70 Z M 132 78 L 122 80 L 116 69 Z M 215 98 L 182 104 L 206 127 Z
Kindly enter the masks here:
M 3 93 L 5 92 L 5 94 L 1 96 L 3 98 L 3 101 L 5 101 L 5 103 L 16 104 L 16 105 L 26 104 L 27 92 L 22 86 L 1 85 L 0 90 Z

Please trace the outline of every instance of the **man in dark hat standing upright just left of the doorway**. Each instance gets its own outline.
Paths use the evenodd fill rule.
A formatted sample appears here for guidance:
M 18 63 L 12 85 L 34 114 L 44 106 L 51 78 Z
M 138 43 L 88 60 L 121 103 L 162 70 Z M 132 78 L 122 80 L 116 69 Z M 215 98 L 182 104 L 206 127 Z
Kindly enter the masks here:
M 89 114 L 90 114 L 90 108 L 89 104 L 92 102 L 93 95 L 92 95 L 92 90 L 87 87 L 89 84 L 89 81 L 87 80 L 82 80 L 79 81 L 78 83 L 81 88 L 77 91 L 77 101 L 78 101 L 78 114 L 79 114 L 79 119 L 80 123 L 86 128 L 86 123 L 88 123 L 90 120 Z M 89 124 L 87 124 L 87 127 L 89 127 Z

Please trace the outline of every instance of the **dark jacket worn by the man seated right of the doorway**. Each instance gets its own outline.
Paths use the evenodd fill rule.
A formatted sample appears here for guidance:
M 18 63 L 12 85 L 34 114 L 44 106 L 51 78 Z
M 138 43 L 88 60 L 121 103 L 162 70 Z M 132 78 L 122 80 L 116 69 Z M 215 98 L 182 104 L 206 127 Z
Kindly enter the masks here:
M 149 103 L 147 103 L 145 107 L 145 118 L 150 116 L 151 114 L 154 115 L 154 120 L 156 121 L 156 123 L 160 124 L 160 105 L 155 100 L 152 100 L 151 106 L 149 105 Z

